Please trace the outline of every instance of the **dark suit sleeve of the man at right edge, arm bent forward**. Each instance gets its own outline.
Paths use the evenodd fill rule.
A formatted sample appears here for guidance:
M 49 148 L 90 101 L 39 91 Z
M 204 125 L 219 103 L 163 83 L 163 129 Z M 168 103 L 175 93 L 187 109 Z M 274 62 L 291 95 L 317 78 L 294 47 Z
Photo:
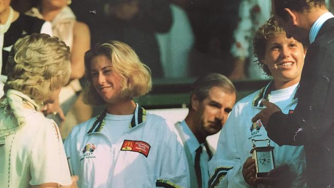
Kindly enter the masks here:
M 331 137 L 328 135 L 334 127 L 334 82 L 331 81 L 334 55 L 331 51 L 324 47 L 309 48 L 293 114 L 275 112 L 270 116 L 268 137 L 277 144 L 312 145 Z M 332 148 L 332 144 L 326 147 Z

